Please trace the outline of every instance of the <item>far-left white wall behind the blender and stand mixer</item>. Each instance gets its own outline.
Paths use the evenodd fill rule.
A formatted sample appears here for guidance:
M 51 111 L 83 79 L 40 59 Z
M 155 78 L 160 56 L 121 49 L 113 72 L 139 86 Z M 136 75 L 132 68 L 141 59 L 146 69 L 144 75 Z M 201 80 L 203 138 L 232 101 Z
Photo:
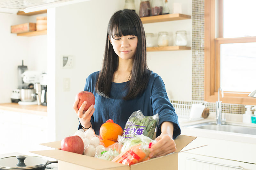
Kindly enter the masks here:
M 43 14 L 41 14 L 43 15 Z M 28 70 L 46 71 L 46 35 L 25 37 L 11 33 L 11 26 L 35 21 L 35 16 L 0 13 L 0 103 L 11 102 L 13 89 L 18 88 L 18 65 Z

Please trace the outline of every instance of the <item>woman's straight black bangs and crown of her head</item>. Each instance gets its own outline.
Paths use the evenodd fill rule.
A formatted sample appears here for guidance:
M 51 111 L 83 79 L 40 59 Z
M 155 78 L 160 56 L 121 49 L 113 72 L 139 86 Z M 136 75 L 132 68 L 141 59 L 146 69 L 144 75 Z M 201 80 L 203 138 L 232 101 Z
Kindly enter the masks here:
M 120 13 L 121 15 L 113 16 L 112 21 L 109 23 L 108 34 L 115 37 L 121 37 L 126 35 L 135 35 L 138 36 L 138 28 L 134 23 L 134 18 Z

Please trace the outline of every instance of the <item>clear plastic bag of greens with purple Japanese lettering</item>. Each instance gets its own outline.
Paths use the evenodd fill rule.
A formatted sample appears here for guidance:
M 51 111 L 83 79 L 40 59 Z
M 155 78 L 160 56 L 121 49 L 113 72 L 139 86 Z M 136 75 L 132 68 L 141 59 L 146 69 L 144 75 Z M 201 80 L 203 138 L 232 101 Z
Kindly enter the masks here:
M 123 137 L 130 139 L 138 135 L 144 135 L 152 139 L 158 122 L 158 114 L 144 116 L 141 110 L 133 112 L 125 124 Z

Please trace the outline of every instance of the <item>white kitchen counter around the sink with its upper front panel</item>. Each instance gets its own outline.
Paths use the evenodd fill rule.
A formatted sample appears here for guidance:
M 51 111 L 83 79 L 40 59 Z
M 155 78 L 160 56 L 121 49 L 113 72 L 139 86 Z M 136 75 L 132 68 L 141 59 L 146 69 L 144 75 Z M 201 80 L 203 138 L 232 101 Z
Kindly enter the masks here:
M 256 161 L 252 155 L 256 153 L 256 135 L 185 127 L 187 125 L 215 121 L 215 115 L 216 113 L 211 113 L 208 118 L 203 120 L 180 122 L 182 135 L 197 137 L 188 146 L 183 148 L 182 151 L 255 164 Z M 256 124 L 241 122 L 243 120 L 242 117 L 242 114 L 226 114 L 226 122 L 235 122 L 241 125 L 246 124 L 247 126 L 256 128 Z M 203 147 L 196 148 L 199 146 Z M 192 148 L 196 149 L 189 150 Z

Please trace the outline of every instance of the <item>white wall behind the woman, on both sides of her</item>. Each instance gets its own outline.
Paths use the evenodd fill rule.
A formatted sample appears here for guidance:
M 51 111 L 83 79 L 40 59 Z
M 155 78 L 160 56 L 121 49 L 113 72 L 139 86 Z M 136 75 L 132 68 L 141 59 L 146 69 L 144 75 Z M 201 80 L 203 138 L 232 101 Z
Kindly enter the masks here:
M 77 130 L 77 115 L 72 109 L 75 95 L 77 92 L 83 91 L 87 76 L 100 70 L 109 18 L 115 11 L 124 7 L 124 1 L 111 0 L 111 3 L 109 2 L 93 0 L 58 7 L 55 10 L 52 9 L 52 12 L 48 10 L 47 70 L 51 77 L 48 85 L 48 92 L 51 91 L 48 93 L 51 100 L 50 103 L 48 100 L 48 116 L 55 119 L 51 119 L 52 123 L 49 123 L 49 129 L 56 132 L 56 134 L 51 133 L 49 140 L 61 140 L 68 135 L 73 135 Z M 135 3 L 138 8 L 139 1 L 136 0 Z M 182 3 L 184 14 L 191 15 L 192 1 L 188 3 L 187 0 L 183 0 Z M 170 8 L 172 8 L 172 2 L 170 2 Z M 54 17 L 53 20 L 55 20 L 55 23 L 52 22 L 52 26 L 49 25 L 50 17 Z M 153 33 L 187 30 L 190 41 L 188 46 L 191 46 L 191 20 L 148 24 L 145 25 L 145 30 Z M 49 41 L 49 38 L 52 38 L 52 41 Z M 50 48 L 51 50 L 49 50 Z M 61 68 L 62 55 L 74 56 L 74 68 Z M 163 78 L 171 96 L 191 99 L 191 50 L 150 52 L 148 53 L 148 65 L 151 70 Z M 70 91 L 68 92 L 63 90 L 64 78 L 70 79 Z

